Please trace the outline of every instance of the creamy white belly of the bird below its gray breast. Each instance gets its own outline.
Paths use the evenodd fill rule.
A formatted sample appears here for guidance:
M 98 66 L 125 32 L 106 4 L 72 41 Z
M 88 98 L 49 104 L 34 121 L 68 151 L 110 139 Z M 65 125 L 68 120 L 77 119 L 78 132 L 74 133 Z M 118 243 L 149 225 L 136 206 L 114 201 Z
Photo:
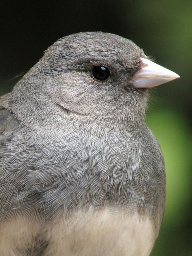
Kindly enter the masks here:
M 59 218 L 48 228 L 21 217 L 0 229 L 0 256 L 23 256 L 21 248 L 33 246 L 37 236 L 48 242 L 43 256 L 148 256 L 156 238 L 150 220 L 137 213 L 114 217 L 105 209 Z

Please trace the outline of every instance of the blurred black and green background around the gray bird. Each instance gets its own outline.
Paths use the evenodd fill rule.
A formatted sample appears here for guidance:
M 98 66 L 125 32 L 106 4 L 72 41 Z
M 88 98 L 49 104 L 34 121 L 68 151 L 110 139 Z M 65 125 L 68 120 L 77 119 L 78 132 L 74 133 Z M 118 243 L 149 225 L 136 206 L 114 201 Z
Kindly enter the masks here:
M 146 122 L 166 162 L 167 198 L 151 256 L 192 255 L 192 1 L 2 1 L 0 94 L 58 38 L 84 31 L 133 40 L 181 78 L 151 90 Z

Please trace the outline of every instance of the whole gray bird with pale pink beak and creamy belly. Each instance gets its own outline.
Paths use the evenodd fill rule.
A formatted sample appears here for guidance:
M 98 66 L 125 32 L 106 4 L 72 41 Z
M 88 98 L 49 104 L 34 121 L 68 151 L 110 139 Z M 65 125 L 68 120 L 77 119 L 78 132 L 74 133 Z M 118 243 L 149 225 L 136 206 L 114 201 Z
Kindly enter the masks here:
M 57 40 L 0 97 L 0 255 L 148 256 L 164 214 L 150 88 L 179 75 L 106 32 Z

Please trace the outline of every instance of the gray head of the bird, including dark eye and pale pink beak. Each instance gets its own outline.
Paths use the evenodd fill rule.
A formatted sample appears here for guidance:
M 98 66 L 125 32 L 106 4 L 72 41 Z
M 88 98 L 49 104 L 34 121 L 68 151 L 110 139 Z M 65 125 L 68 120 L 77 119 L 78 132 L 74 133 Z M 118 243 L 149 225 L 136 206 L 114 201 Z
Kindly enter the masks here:
M 55 42 L 25 79 L 31 100 L 36 96 L 41 108 L 46 96 L 65 114 L 143 122 L 147 88 L 176 77 L 131 40 L 86 32 Z

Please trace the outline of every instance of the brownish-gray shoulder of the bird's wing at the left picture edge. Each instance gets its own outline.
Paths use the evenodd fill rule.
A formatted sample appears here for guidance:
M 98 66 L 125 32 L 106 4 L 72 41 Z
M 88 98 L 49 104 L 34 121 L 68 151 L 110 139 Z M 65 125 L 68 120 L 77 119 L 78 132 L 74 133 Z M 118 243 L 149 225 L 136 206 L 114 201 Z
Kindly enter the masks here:
M 10 93 L 0 96 L 0 147 L 9 142 L 18 129 L 18 122 L 10 108 Z

